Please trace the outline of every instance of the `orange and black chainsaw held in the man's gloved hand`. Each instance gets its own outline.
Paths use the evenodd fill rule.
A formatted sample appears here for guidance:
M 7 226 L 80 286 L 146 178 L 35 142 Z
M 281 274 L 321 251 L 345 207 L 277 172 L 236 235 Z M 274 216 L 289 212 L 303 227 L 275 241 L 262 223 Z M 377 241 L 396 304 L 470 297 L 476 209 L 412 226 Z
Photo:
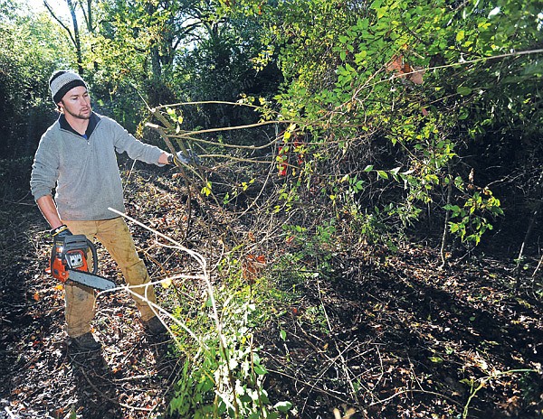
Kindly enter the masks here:
M 89 272 L 87 252 L 90 250 L 94 264 Z M 62 283 L 71 281 L 76 284 L 90 286 L 100 291 L 115 288 L 116 284 L 103 276 L 96 275 L 98 257 L 96 247 L 83 234 L 56 238 L 52 246 L 51 260 L 46 272 Z

